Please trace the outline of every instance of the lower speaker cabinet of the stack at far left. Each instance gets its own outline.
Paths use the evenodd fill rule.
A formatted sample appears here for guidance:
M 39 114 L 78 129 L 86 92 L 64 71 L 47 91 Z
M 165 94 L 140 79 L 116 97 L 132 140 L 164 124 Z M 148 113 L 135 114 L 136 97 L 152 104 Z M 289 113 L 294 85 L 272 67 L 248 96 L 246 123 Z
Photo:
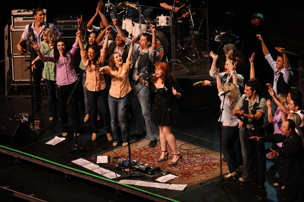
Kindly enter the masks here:
M 29 71 L 24 70 L 30 65 L 30 56 L 13 56 L 12 57 L 12 69 L 14 81 L 29 81 Z

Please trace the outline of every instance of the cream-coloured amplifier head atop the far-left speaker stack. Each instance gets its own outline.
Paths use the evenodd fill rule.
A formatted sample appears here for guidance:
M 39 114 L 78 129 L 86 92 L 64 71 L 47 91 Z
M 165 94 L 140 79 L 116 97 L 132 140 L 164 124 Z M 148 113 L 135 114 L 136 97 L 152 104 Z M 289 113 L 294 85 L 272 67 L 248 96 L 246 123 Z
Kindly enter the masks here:
M 34 11 L 34 9 L 12 10 L 12 27 L 13 28 L 25 28 L 25 25 L 35 21 L 35 18 L 33 17 L 33 11 Z M 46 9 L 43 9 L 43 11 L 45 13 L 44 21 L 47 22 Z

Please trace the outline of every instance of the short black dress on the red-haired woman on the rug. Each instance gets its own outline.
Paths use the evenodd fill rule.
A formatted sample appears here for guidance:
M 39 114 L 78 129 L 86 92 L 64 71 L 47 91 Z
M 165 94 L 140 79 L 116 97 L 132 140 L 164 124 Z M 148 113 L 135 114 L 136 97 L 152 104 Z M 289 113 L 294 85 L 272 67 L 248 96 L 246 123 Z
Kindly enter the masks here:
M 177 92 L 183 94 L 177 81 L 168 75 L 164 88 L 157 89 L 152 82 L 149 82 L 149 87 L 152 97 L 154 97 L 152 122 L 158 126 L 175 126 L 182 123 L 182 113 L 176 105 L 177 97 L 172 92 L 172 87 L 174 87 Z

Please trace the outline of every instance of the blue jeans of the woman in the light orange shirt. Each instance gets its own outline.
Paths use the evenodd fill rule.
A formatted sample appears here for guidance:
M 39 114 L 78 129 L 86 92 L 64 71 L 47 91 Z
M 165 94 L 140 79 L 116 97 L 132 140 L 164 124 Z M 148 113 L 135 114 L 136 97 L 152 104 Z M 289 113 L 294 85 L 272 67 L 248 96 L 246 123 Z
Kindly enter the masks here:
M 116 98 L 111 95 L 108 96 L 109 109 L 111 115 L 111 127 L 113 133 L 113 143 L 119 142 L 119 129 L 118 123 L 120 125 L 120 130 L 122 133 L 122 140 L 124 143 L 128 142 L 128 126 L 127 126 L 127 108 L 121 111 L 125 105 L 128 103 L 128 95 Z

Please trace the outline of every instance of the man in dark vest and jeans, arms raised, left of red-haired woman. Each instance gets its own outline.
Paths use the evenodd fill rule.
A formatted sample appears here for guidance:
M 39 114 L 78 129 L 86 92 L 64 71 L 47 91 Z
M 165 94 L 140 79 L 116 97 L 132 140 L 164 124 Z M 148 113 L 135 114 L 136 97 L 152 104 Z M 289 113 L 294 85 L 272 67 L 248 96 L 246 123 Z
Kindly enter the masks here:
M 113 20 L 117 29 L 117 35 L 119 35 L 127 45 L 131 43 L 131 39 L 126 37 L 117 24 L 117 20 Z M 153 65 L 156 57 L 156 36 L 155 26 L 150 25 L 152 31 L 152 37 L 148 33 L 143 33 L 140 37 L 139 44 L 134 44 L 133 51 L 135 56 L 131 65 L 130 71 L 130 84 L 132 91 L 130 92 L 131 97 L 144 85 L 137 81 L 137 76 L 147 80 L 147 77 L 153 72 Z M 152 43 L 152 46 L 150 44 Z M 136 121 L 136 133 L 144 134 L 147 130 L 148 137 L 150 139 L 149 147 L 155 147 L 157 144 L 156 140 L 156 129 L 155 125 L 151 121 L 151 103 L 149 97 L 149 88 L 144 86 L 136 97 L 132 100 L 132 110 Z M 144 122 L 145 119 L 145 122 Z M 145 127 L 146 126 L 146 127 Z

